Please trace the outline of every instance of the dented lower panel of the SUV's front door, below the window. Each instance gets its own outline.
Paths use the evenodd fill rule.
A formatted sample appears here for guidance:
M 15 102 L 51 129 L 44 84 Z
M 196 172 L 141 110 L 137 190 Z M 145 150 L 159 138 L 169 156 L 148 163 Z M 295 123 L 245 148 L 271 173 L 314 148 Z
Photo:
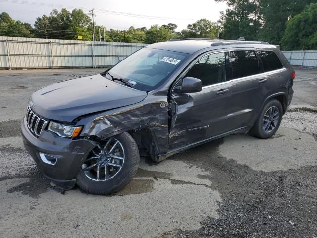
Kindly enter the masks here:
M 204 87 L 201 92 L 173 96 L 170 149 L 175 149 L 229 131 L 231 83 Z M 228 90 L 219 94 L 221 90 Z

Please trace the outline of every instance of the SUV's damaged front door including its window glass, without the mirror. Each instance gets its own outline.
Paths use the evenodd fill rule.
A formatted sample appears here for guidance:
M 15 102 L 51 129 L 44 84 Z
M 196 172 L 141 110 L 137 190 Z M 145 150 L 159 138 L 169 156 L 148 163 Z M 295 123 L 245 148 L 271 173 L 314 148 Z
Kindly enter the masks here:
M 212 53 L 198 60 L 184 77 L 202 80 L 203 90 L 172 96 L 169 149 L 196 143 L 231 129 L 231 82 L 226 82 L 226 55 Z M 181 84 L 181 82 L 180 82 Z

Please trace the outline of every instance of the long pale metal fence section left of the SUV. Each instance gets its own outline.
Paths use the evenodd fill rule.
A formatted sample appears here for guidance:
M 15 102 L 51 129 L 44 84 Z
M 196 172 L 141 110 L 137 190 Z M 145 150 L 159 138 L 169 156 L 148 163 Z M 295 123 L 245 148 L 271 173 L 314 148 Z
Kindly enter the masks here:
M 107 67 L 146 45 L 0 36 L 0 68 Z

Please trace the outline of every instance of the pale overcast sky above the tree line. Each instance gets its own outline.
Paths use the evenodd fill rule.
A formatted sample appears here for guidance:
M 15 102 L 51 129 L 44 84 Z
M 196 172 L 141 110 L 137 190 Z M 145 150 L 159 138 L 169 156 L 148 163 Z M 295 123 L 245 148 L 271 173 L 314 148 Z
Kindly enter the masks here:
M 24 4 L 22 3 L 24 2 Z M 100 9 L 95 11 L 95 22 L 104 25 L 107 29 L 126 30 L 130 26 L 135 28 L 158 24 L 176 23 L 177 31 L 187 28 L 188 24 L 206 18 L 217 21 L 220 11 L 227 6 L 223 2 L 214 0 L 0 0 L 0 11 L 7 12 L 14 20 L 34 24 L 36 17 L 49 15 L 53 8 L 60 10 L 65 7 L 71 11 L 74 8 Z M 115 15 L 101 10 L 133 13 L 154 16 L 156 18 L 132 17 Z

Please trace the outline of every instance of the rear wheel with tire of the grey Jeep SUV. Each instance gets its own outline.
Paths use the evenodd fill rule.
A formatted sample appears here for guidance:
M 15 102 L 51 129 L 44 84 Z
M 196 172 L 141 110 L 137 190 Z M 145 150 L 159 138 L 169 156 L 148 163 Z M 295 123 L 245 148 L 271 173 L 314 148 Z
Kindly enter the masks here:
M 250 134 L 267 139 L 278 130 L 283 116 L 283 107 L 277 99 L 270 100 L 263 108 L 256 123 L 250 130 Z

